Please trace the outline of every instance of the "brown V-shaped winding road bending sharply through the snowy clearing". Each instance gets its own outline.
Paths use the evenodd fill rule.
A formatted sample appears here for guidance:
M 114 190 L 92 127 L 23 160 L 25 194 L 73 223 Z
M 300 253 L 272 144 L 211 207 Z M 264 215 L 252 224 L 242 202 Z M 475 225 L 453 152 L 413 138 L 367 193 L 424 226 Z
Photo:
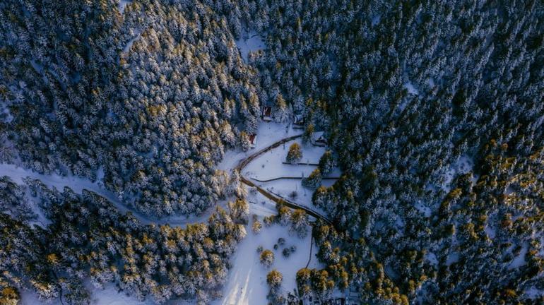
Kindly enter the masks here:
M 290 136 L 288 138 L 283 138 L 282 140 L 278 140 L 278 142 L 273 143 L 272 145 L 269 145 L 266 148 L 262 148 L 261 150 L 254 152 L 252 155 L 249 155 L 246 158 L 240 160 L 240 162 L 238 162 L 238 165 L 232 170 L 238 171 L 240 173 L 240 181 L 243 184 L 254 187 L 257 191 L 259 191 L 259 193 L 263 194 L 266 198 L 270 199 L 271 201 L 274 201 L 276 203 L 282 203 L 288 208 L 304 210 L 307 213 L 307 215 L 310 215 L 316 219 L 321 219 L 324 222 L 328 223 L 329 225 L 333 225 L 333 223 L 331 222 L 331 220 L 329 220 L 328 217 L 317 212 L 316 210 L 312 210 L 311 208 L 308 208 L 307 206 L 300 205 L 298 203 L 290 201 L 287 198 L 282 198 L 276 195 L 275 193 L 272 193 L 270 191 L 267 191 L 266 189 L 261 188 L 260 186 L 254 184 L 251 180 L 242 176 L 242 169 L 244 169 L 244 167 L 246 167 L 249 164 L 249 162 L 252 162 L 256 157 L 259 157 L 260 155 L 264 154 L 265 152 L 269 150 L 272 150 L 273 148 L 277 148 L 279 145 L 282 145 L 283 143 L 287 143 L 290 140 L 295 140 L 296 138 L 300 138 L 301 136 L 302 134 L 299 134 L 296 136 Z

